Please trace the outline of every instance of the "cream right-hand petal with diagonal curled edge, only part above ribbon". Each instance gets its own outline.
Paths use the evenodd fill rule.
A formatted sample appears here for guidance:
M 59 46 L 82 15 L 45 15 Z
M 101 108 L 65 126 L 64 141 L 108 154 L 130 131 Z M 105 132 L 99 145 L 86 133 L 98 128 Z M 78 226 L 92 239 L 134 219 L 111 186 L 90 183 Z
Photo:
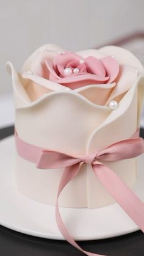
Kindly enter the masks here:
M 137 108 L 138 94 L 142 95 L 142 101 Z M 131 137 L 140 125 L 137 122 L 137 115 L 142 109 L 143 100 L 144 76 L 139 75 L 126 95 L 121 99 L 118 108 L 112 111 L 106 120 L 96 128 L 88 142 L 87 153 L 95 152 L 118 140 Z M 101 141 L 102 137 L 103 140 Z

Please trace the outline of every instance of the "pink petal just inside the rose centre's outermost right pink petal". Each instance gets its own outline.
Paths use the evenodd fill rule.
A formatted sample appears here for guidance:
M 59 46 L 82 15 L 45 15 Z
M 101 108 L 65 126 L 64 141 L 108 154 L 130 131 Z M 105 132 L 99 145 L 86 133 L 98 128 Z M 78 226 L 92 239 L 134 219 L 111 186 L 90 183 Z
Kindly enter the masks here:
M 87 67 L 90 69 L 89 73 L 93 73 L 102 77 L 106 76 L 104 65 L 101 63 L 101 60 L 97 59 L 96 57 L 87 57 L 85 59 L 85 64 L 87 64 Z

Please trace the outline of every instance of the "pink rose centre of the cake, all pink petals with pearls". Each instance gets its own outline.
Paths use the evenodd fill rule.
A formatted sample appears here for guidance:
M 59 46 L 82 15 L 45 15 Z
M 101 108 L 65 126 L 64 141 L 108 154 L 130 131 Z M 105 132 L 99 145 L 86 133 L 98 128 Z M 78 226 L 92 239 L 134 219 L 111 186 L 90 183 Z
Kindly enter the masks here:
M 78 54 L 63 52 L 53 61 L 46 59 L 49 80 L 76 89 L 88 84 L 107 84 L 117 78 L 119 64 L 112 56 L 97 59 L 88 56 L 85 59 Z

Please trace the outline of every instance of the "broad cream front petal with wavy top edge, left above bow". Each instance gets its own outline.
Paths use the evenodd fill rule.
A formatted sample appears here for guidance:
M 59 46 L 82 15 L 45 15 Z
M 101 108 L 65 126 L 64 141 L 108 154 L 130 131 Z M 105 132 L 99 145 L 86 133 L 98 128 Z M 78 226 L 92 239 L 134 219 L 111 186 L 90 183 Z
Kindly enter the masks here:
M 90 104 L 82 95 L 49 93 L 31 106 L 16 109 L 16 131 L 26 142 L 64 153 L 83 155 L 88 138 L 112 110 Z

